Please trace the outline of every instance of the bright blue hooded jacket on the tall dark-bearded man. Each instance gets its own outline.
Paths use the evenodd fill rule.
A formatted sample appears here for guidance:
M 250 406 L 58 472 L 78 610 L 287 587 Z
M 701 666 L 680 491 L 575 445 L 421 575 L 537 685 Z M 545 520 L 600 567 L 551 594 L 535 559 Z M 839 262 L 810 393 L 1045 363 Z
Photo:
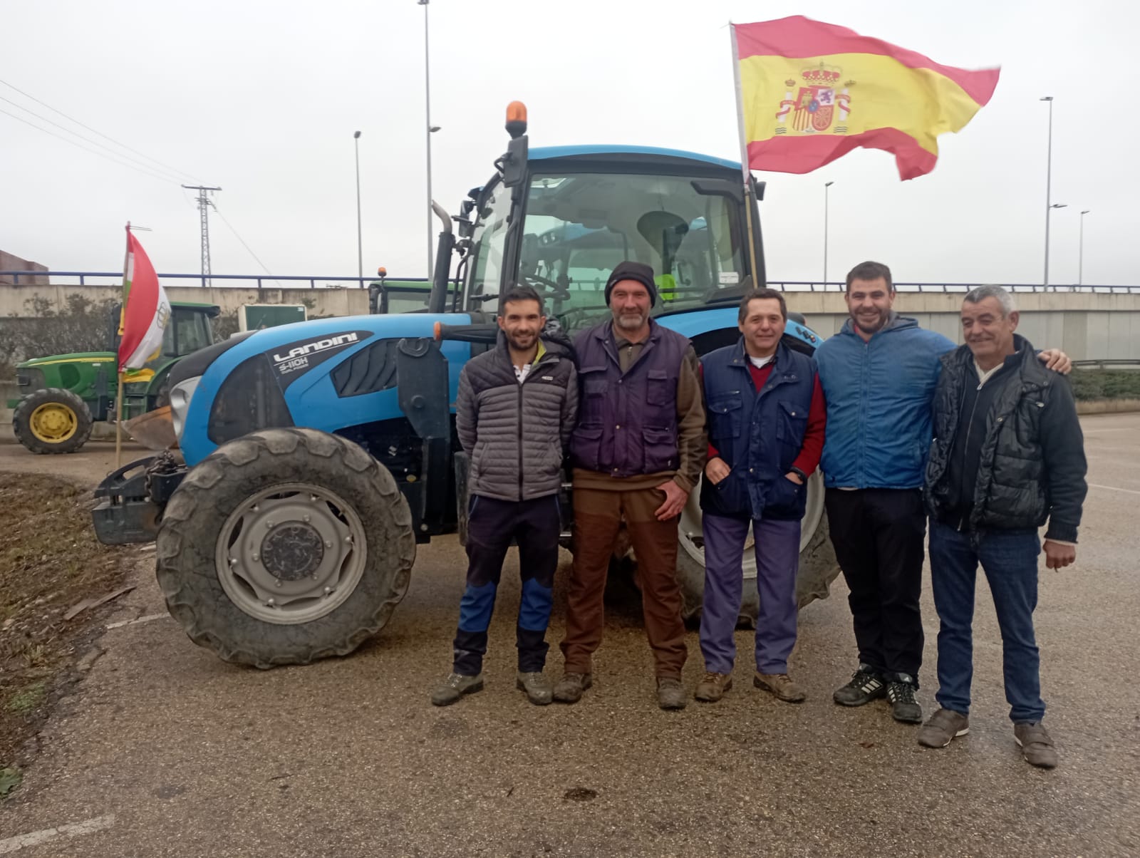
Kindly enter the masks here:
M 870 340 L 847 319 L 815 351 L 828 400 L 823 479 L 844 488 L 920 488 L 940 358 L 954 343 L 891 314 Z

